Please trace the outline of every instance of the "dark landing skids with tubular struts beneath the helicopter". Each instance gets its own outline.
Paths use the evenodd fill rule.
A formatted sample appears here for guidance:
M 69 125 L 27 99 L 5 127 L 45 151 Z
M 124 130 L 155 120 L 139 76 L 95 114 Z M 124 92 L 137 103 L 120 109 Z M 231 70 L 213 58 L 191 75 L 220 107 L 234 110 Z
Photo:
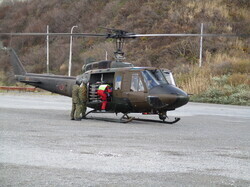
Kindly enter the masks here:
M 102 118 L 102 117 L 93 117 L 93 118 L 88 118 L 87 115 L 90 113 L 108 113 L 108 112 L 102 112 L 98 110 L 91 110 L 89 111 L 84 118 L 86 119 L 92 119 L 92 120 L 100 120 L 100 121 L 108 121 L 108 122 L 117 122 L 117 123 L 129 123 L 133 120 L 136 121 L 146 121 L 146 122 L 154 122 L 154 123 L 165 123 L 165 124 L 174 124 L 178 121 L 180 121 L 181 118 L 176 117 L 173 121 L 166 121 L 165 119 L 163 120 L 153 120 L 153 119 L 141 119 L 141 118 L 135 118 L 135 117 L 129 117 L 128 114 L 123 114 L 123 116 L 120 119 L 111 119 L 111 118 Z M 111 112 L 113 113 L 113 112 Z

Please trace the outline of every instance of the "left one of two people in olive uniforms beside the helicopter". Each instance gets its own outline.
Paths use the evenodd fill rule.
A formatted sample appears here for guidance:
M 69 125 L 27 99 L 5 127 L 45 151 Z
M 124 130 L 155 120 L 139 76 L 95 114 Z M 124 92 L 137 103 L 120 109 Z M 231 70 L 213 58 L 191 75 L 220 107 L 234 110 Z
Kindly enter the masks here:
M 81 80 L 76 80 L 76 84 L 72 88 L 72 110 L 71 110 L 71 120 L 81 120 L 81 108 L 82 104 L 79 98 Z

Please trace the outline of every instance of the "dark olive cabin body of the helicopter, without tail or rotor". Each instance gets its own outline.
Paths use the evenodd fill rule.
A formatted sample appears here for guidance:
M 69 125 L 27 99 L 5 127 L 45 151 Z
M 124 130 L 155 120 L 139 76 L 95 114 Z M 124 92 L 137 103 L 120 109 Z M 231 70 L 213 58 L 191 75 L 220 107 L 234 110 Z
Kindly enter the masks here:
M 101 101 L 96 94 L 100 84 L 113 88 L 107 111 L 158 113 L 174 110 L 185 105 L 188 95 L 167 82 L 163 72 L 152 67 L 124 67 L 90 70 L 88 77 L 87 106 L 100 109 Z

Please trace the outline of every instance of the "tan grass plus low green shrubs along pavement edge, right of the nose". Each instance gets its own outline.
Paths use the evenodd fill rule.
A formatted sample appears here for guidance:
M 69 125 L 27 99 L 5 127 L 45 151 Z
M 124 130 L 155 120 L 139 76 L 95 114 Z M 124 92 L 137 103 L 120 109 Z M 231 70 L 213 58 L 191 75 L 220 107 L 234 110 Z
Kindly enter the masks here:
M 191 101 L 250 106 L 250 60 L 226 54 L 210 56 L 199 68 L 176 74 L 177 85 Z

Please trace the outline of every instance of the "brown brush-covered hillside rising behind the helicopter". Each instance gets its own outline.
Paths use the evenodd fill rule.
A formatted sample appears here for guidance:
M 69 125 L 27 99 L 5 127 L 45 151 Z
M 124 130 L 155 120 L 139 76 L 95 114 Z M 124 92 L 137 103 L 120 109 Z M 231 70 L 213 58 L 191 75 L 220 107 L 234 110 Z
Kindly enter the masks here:
M 0 6 L 0 32 L 103 33 L 100 27 L 134 33 L 250 33 L 248 0 L 30 0 Z M 18 51 L 30 72 L 46 71 L 45 37 L 2 37 L 4 46 Z M 126 42 L 126 61 L 138 66 L 171 69 L 178 85 L 195 96 L 216 99 L 238 94 L 229 103 L 250 104 L 250 39 L 204 38 L 203 67 L 198 68 L 199 38 L 140 38 Z M 96 38 L 74 38 L 73 75 L 89 57 L 113 58 L 114 43 Z M 67 74 L 69 38 L 50 38 L 50 70 Z M 1 84 L 12 84 L 5 52 L 0 52 Z M 238 88 L 238 86 L 241 86 Z M 234 90 L 236 89 L 236 91 Z M 212 93 L 211 93 L 212 92 Z M 216 93 L 214 93 L 216 92 Z M 240 93 L 239 93 L 240 92 Z M 243 92 L 243 93 L 241 93 Z M 213 95 L 215 94 L 215 95 Z M 216 95 L 217 94 L 217 95 Z M 199 97 L 201 98 L 201 97 Z M 235 97 L 233 97 L 233 100 Z M 242 102 L 240 102 L 240 100 Z

